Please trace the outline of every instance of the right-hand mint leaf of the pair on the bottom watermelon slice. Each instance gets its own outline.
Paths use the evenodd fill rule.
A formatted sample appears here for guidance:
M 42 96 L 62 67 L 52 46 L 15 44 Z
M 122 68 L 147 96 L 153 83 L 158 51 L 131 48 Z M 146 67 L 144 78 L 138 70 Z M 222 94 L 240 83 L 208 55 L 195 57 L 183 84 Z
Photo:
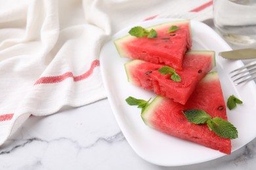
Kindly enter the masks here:
M 215 117 L 210 118 L 207 121 L 207 126 L 216 135 L 223 137 L 224 139 L 236 139 L 238 137 L 238 131 L 230 122 L 223 118 Z

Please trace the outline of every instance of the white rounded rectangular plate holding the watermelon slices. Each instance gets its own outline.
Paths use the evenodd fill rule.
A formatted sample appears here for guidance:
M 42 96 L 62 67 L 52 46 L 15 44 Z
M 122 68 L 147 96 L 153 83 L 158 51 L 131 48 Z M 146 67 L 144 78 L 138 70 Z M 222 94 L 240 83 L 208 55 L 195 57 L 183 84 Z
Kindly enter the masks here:
M 146 126 L 140 118 L 140 109 L 127 105 L 125 99 L 133 96 L 148 100 L 154 98 L 154 93 L 142 90 L 127 82 L 124 63 L 129 61 L 120 58 L 114 46 L 114 40 L 127 35 L 131 27 L 140 25 L 149 27 L 164 22 L 178 19 L 161 19 L 141 22 L 131 25 L 114 35 L 102 48 L 100 53 L 100 68 L 110 105 L 117 123 L 125 135 L 128 143 L 135 152 L 144 160 L 157 165 L 179 166 L 200 163 L 203 161 L 220 158 L 225 154 L 201 146 L 200 144 L 184 141 L 177 137 L 165 135 Z M 242 61 L 230 61 L 217 54 L 221 51 L 231 50 L 230 46 L 202 22 L 191 20 L 192 50 L 214 50 L 216 54 L 218 71 L 223 88 L 225 101 L 232 94 L 242 99 L 243 105 L 238 105 L 234 110 L 228 110 L 228 120 L 238 129 L 238 139 L 232 140 L 232 152 L 249 143 L 256 137 L 256 87 L 253 81 L 234 86 L 228 73 L 243 65 Z

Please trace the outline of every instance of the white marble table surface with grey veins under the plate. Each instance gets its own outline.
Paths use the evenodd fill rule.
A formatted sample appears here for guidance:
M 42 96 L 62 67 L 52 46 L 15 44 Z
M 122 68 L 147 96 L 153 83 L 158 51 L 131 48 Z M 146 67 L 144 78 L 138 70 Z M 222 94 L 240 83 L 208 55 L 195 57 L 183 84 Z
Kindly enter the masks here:
M 51 116 L 31 116 L 0 147 L 0 169 L 255 168 L 256 139 L 231 155 L 204 163 L 181 167 L 148 163 L 125 140 L 108 99 L 84 107 L 65 108 Z

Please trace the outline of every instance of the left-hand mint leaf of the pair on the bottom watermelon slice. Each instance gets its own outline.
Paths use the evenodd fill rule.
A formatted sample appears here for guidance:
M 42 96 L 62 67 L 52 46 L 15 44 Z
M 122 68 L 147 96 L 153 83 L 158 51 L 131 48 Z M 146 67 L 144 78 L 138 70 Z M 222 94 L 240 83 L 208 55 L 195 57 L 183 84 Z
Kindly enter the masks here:
M 186 110 L 183 114 L 188 119 L 188 122 L 193 124 L 205 124 L 211 118 L 211 116 L 204 110 Z

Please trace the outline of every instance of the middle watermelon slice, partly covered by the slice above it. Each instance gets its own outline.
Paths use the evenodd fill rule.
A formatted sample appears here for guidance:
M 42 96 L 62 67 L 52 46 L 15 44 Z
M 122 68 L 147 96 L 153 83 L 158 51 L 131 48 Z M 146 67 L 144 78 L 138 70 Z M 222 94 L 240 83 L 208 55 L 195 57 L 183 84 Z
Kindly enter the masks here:
M 171 80 L 171 75 L 161 75 L 158 69 L 163 65 L 139 59 L 125 63 L 125 71 L 128 81 L 132 84 L 184 105 L 196 88 L 196 84 L 214 66 L 215 52 L 189 51 L 184 57 L 182 71 L 176 71 L 181 76 L 181 82 Z

